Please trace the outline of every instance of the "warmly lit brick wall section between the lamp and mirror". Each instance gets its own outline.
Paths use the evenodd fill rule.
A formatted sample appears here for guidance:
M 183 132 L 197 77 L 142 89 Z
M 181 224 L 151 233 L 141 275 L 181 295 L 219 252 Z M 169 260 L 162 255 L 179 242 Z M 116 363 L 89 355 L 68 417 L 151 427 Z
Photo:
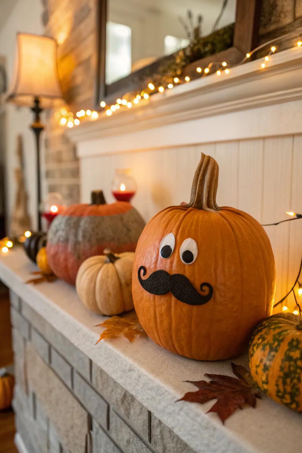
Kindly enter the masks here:
M 43 5 L 45 34 L 58 41 L 58 72 L 67 109 L 92 108 L 96 0 L 44 0 Z M 61 193 L 71 204 L 80 197 L 76 149 L 53 113 L 48 114 L 44 135 L 45 177 L 48 191 Z

